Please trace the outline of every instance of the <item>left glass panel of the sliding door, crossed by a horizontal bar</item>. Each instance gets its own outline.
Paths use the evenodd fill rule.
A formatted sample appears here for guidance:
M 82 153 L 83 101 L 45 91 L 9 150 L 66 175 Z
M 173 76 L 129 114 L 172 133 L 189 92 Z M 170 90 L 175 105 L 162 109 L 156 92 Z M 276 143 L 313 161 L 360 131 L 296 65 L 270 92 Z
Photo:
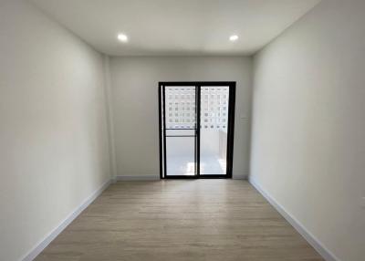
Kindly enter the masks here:
M 195 87 L 165 87 L 166 175 L 195 175 Z

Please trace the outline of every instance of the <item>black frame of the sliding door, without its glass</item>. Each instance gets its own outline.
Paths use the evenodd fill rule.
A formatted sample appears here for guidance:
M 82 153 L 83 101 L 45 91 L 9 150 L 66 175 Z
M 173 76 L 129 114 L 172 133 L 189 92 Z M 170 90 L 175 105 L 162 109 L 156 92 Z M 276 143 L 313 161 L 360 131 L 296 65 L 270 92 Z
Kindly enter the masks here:
M 166 86 L 194 86 L 195 87 L 195 150 L 194 159 L 196 174 L 193 176 L 166 174 L 166 123 L 165 123 L 165 88 Z M 222 86 L 229 88 L 228 99 L 228 130 L 226 151 L 226 173 L 224 175 L 200 175 L 200 120 L 201 120 L 201 89 L 204 86 Z M 235 136 L 235 81 L 161 81 L 159 82 L 159 139 L 160 139 L 160 178 L 161 179 L 229 179 L 232 178 Z M 165 172 L 165 173 L 164 173 Z

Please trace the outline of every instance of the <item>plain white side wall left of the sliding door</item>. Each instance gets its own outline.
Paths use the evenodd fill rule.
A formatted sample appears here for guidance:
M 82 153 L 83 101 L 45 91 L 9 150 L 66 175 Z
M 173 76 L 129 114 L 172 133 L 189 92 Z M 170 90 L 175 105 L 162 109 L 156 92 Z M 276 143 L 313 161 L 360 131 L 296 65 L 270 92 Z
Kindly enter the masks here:
M 103 57 L 0 2 L 0 260 L 25 256 L 110 179 Z

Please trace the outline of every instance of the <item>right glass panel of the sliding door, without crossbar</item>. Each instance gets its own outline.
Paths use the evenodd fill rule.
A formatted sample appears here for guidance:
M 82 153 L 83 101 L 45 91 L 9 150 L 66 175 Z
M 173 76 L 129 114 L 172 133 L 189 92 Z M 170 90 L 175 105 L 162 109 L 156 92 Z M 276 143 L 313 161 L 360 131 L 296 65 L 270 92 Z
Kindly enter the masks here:
M 201 89 L 200 174 L 225 175 L 229 88 Z

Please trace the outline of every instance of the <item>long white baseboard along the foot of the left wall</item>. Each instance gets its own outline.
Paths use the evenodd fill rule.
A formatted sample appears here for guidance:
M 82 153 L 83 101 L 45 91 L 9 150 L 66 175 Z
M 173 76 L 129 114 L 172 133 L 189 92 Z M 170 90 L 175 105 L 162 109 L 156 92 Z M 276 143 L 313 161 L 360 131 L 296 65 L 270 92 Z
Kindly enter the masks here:
M 38 242 L 36 246 L 29 251 L 26 256 L 21 258 L 22 261 L 32 261 L 38 256 L 46 247 L 51 243 L 57 235 L 59 235 L 75 218 L 78 217 L 78 214 L 86 209 L 89 204 L 91 204 L 106 188 L 109 187 L 111 180 L 102 184 L 99 189 L 97 189 L 94 193 L 91 193 L 89 198 L 87 198 L 82 204 L 80 204 L 71 214 L 68 214 L 68 217 L 57 225 L 55 229 L 53 229 L 43 240 Z

